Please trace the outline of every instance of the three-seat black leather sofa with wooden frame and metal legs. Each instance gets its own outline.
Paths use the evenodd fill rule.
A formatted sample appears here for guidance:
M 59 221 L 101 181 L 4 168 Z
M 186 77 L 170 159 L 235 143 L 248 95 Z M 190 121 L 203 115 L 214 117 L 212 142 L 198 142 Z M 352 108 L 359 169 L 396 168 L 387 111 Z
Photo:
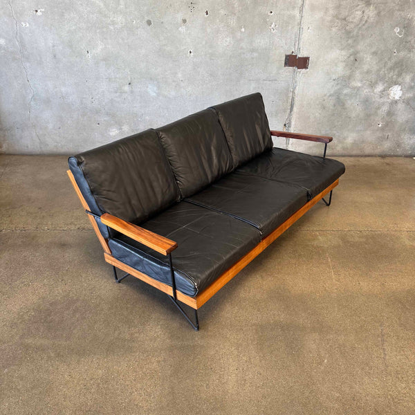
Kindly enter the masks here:
M 273 148 L 272 135 L 322 142 L 324 156 Z M 331 201 L 344 165 L 325 158 L 330 141 L 270 131 L 254 93 L 70 157 L 68 175 L 116 282 L 133 275 L 164 291 L 199 329 L 198 308 L 317 201 Z

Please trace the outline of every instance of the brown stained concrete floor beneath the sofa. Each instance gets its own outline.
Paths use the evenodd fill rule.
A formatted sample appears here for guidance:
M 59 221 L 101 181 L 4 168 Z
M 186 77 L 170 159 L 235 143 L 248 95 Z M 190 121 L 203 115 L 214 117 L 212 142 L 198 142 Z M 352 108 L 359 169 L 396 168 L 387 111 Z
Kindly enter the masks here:
M 415 160 L 339 160 L 196 333 L 114 284 L 66 158 L 0 156 L 0 413 L 414 414 Z

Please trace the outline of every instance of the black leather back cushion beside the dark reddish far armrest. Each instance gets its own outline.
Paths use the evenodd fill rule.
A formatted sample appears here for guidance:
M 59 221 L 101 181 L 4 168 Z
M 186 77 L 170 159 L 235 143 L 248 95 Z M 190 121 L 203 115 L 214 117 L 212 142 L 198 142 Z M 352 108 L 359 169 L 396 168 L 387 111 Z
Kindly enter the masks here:
M 215 105 L 228 140 L 234 167 L 273 148 L 268 118 L 260 93 Z

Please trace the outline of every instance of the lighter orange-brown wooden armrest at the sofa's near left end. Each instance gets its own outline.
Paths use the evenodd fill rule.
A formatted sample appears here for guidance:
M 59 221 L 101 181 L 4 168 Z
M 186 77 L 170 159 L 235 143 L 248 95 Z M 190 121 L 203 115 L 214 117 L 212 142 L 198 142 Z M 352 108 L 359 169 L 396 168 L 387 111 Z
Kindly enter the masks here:
M 109 228 L 118 230 L 127 237 L 134 239 L 134 241 L 140 242 L 151 249 L 160 252 L 160 254 L 168 255 L 172 250 L 177 248 L 177 243 L 162 237 L 161 235 L 155 234 L 150 230 L 140 228 L 140 226 L 134 225 L 127 221 L 113 216 L 109 213 L 104 213 L 100 216 L 101 222 Z

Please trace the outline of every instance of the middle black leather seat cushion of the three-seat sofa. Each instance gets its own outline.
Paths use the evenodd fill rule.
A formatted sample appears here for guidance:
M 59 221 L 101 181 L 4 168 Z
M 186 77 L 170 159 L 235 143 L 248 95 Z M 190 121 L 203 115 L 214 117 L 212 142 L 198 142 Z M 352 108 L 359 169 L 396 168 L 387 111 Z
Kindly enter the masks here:
M 234 172 L 185 199 L 249 223 L 264 239 L 307 203 L 296 185 Z

